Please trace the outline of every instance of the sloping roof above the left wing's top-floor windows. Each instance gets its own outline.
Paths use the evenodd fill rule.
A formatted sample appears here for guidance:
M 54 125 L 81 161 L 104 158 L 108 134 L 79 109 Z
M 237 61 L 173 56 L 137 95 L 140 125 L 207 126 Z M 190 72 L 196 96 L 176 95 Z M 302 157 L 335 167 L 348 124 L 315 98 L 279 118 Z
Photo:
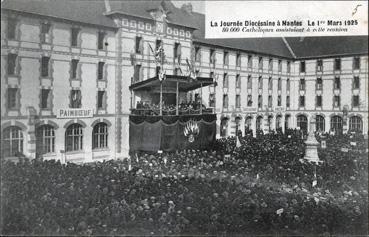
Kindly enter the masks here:
M 5 0 L 1 8 L 116 28 L 101 0 Z

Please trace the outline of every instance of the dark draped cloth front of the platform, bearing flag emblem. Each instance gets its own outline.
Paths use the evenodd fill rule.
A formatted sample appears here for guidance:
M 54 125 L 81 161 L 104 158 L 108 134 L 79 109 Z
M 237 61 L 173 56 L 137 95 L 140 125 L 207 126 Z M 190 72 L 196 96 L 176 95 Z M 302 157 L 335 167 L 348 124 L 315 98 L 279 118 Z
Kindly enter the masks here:
M 129 117 L 129 145 L 131 151 L 175 151 L 207 149 L 215 141 L 216 115 L 137 116 Z M 194 121 L 198 134 L 189 142 L 184 130 Z M 188 135 L 188 134 L 187 134 Z

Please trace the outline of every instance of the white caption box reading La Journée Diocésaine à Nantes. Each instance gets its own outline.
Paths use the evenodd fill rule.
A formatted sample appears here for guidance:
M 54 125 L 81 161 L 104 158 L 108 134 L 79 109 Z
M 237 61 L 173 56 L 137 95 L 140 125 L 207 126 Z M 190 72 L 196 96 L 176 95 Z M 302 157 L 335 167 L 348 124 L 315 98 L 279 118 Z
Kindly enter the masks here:
M 205 38 L 368 35 L 367 1 L 206 1 Z

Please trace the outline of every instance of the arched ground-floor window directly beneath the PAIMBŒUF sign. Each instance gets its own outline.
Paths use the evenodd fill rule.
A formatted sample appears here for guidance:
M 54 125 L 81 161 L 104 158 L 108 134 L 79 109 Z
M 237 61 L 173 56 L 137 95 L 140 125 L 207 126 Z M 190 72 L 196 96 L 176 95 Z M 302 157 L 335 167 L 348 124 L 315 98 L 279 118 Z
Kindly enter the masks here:
M 83 149 L 82 125 L 74 123 L 65 131 L 65 151 L 80 151 Z

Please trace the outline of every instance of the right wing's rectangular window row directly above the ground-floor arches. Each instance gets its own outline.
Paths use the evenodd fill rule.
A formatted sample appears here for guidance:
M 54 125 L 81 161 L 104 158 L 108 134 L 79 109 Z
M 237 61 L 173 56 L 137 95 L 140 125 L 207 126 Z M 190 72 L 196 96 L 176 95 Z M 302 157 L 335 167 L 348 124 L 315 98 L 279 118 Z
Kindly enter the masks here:
M 229 97 L 228 94 L 223 95 L 223 108 L 227 109 L 229 104 Z M 251 107 L 253 105 L 252 95 L 247 96 L 247 106 Z M 215 94 L 210 93 L 209 96 L 209 106 L 215 107 Z M 278 95 L 277 97 L 277 106 L 282 106 L 282 96 Z M 290 96 L 286 96 L 286 108 L 290 108 Z M 316 96 L 315 99 L 315 106 L 322 107 L 323 106 L 323 97 L 321 95 Z M 333 96 L 333 107 L 339 108 L 341 106 L 341 97 L 340 96 Z M 360 106 L 360 97 L 358 95 L 352 96 L 352 107 L 358 108 Z M 273 107 L 273 97 L 271 95 L 268 96 L 268 108 Z M 299 97 L 299 107 L 305 107 L 305 96 Z M 241 108 L 241 96 L 236 94 L 236 108 Z M 263 108 L 263 96 L 258 96 L 258 108 Z

